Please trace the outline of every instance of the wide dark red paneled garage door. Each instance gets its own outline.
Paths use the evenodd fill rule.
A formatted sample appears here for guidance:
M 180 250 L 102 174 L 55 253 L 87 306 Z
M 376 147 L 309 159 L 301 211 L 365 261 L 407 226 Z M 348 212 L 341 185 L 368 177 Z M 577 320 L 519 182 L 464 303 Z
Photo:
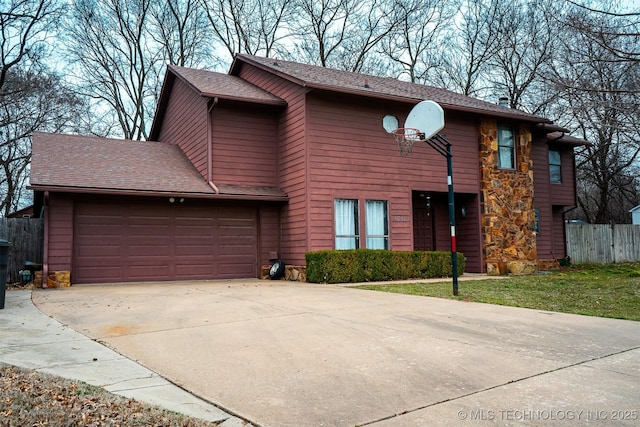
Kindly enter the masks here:
M 77 203 L 75 283 L 257 276 L 256 209 Z

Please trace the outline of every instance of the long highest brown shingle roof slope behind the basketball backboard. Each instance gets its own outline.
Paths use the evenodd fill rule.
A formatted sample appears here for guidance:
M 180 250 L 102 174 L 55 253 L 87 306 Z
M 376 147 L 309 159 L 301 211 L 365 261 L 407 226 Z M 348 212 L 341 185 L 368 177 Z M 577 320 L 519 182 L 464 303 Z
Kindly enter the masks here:
M 545 118 L 513 108 L 481 101 L 446 89 L 404 82 L 391 77 L 371 76 L 280 59 L 237 54 L 229 74 L 237 75 L 243 63 L 251 64 L 300 86 L 350 93 L 401 102 L 430 99 L 444 109 L 483 114 L 534 123 L 550 123 Z

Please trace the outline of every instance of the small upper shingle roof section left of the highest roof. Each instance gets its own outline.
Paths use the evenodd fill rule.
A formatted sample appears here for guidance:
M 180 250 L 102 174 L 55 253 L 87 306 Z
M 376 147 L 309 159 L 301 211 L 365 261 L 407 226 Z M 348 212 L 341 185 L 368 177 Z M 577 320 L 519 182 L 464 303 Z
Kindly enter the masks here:
M 169 70 L 182 78 L 203 96 L 233 99 L 259 104 L 285 105 L 285 101 L 245 80 L 213 71 L 169 65 Z

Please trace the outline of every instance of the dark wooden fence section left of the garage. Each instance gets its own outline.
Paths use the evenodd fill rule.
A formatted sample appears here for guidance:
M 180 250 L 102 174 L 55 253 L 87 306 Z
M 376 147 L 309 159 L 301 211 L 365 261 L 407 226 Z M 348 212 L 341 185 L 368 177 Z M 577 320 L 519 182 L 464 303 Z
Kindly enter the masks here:
M 44 220 L 0 218 L 0 239 L 11 242 L 7 265 L 7 283 L 20 281 L 18 272 L 27 261 L 42 263 Z

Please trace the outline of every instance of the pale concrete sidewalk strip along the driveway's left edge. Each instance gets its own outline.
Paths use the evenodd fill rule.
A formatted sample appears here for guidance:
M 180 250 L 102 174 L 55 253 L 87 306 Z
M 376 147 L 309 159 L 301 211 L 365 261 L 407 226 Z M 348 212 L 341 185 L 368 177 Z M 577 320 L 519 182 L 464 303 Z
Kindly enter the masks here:
M 160 375 L 62 325 L 38 310 L 31 291 L 6 293 L 0 310 L 0 362 L 33 369 L 158 405 L 224 427 L 246 424 Z

